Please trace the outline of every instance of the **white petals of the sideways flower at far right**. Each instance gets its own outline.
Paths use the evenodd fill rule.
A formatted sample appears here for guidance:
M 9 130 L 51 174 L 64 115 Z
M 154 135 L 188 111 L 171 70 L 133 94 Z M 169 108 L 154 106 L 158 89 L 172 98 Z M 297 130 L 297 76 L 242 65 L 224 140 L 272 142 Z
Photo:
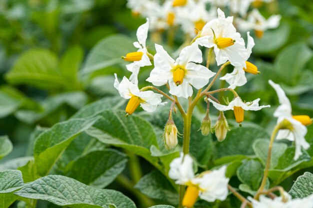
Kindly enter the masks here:
M 295 155 L 294 160 L 297 160 L 302 155 L 301 147 L 308 149 L 309 144 L 305 141 L 304 136 L 306 135 L 306 127 L 298 120 L 294 119 L 291 114 L 291 104 L 284 91 L 281 89 L 279 84 L 275 84 L 269 80 L 268 83 L 274 88 L 277 93 L 279 106 L 274 112 L 274 116 L 277 117 L 277 124 L 283 120 L 287 120 L 292 125 L 292 130 L 283 129 L 279 130 L 276 139 L 287 139 L 295 142 Z

